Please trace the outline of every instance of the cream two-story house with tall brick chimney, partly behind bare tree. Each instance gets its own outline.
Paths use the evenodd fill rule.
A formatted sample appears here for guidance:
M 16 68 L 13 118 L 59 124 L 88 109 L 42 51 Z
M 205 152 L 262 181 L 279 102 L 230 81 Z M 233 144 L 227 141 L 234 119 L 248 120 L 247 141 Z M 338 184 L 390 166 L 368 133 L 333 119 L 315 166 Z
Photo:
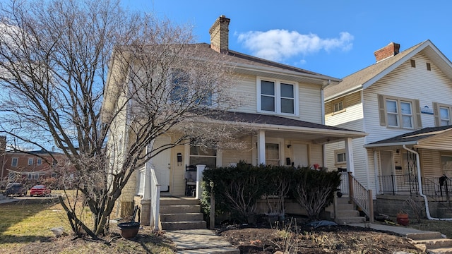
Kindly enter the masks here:
M 220 16 L 210 28 L 210 44 L 194 44 L 203 57 L 218 55 L 227 61 L 236 85 L 229 92 L 242 97 L 242 105 L 222 114 L 210 114 L 200 119 L 200 124 L 222 123 L 224 126 L 250 128 L 250 133 L 238 133 L 237 142 L 245 143 L 247 149 L 233 150 L 221 147 L 201 150 L 193 145 L 176 145 L 153 157 L 148 165 L 155 172 L 160 191 L 165 195 L 184 196 L 186 192 L 186 169 L 189 165 L 203 164 L 207 167 L 227 167 L 237 162 L 250 164 L 277 164 L 287 167 L 304 166 L 325 167 L 323 144 L 333 140 L 343 140 L 351 144 L 352 138 L 365 135 L 359 131 L 326 126 L 323 121 L 323 89 L 331 84 L 338 84 L 338 78 L 321 75 L 301 68 L 259 59 L 254 56 L 234 52 L 228 48 L 230 19 Z M 189 45 L 190 46 L 190 45 Z M 114 66 L 111 68 L 114 70 Z M 124 85 L 127 80 L 124 79 Z M 108 87 L 108 86 L 107 86 Z M 107 96 L 109 93 L 106 93 Z M 113 98 L 113 99 L 112 99 Z M 114 94 L 105 98 L 104 110 L 113 111 Z M 168 102 L 170 103 L 170 102 Z M 123 109 L 126 111 L 126 109 Z M 114 124 L 114 123 L 112 123 Z M 127 130 L 121 127 L 121 130 Z M 127 140 L 130 133 L 112 131 L 110 140 Z M 153 140 L 153 145 L 177 140 L 177 127 L 169 135 L 162 135 Z M 116 138 L 115 138 L 116 137 Z M 175 138 L 176 137 L 176 138 Z M 351 149 L 351 145 L 348 146 Z M 349 154 L 352 152 L 350 151 Z M 348 161 L 352 161 L 349 158 Z M 351 164 L 350 168 L 354 165 Z M 135 178 L 130 179 L 132 188 L 121 193 L 117 205 L 142 206 L 141 222 L 149 223 L 151 197 L 149 173 L 143 168 Z M 163 194 L 162 194 L 163 195 Z M 154 208 L 153 208 L 154 209 Z M 119 207 L 117 211 L 123 211 Z M 124 216 L 124 214 L 117 214 Z M 152 222 L 151 222 L 152 224 Z

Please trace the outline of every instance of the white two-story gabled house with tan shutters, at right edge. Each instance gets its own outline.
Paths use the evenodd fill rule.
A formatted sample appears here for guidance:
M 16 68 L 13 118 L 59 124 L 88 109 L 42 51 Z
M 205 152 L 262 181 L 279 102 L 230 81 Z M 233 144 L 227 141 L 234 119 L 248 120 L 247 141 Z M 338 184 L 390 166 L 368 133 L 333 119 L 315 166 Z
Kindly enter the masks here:
M 452 63 L 429 40 L 403 52 L 391 42 L 374 55 L 325 89 L 326 124 L 369 134 L 352 141 L 352 168 L 343 142 L 326 144 L 326 167 L 351 171 L 376 211 L 396 214 L 420 197 L 427 217 L 439 217 L 452 177 Z

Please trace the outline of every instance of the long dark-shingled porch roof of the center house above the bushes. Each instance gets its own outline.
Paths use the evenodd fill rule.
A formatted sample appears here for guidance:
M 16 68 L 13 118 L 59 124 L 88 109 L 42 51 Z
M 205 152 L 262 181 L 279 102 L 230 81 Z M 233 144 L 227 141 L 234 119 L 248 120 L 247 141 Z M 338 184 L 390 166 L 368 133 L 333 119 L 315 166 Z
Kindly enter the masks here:
M 343 138 L 362 138 L 367 135 L 361 131 L 266 114 L 211 111 L 205 117 L 206 121 L 260 129 L 282 138 L 295 138 L 299 134 L 304 140 L 314 140 L 315 143 L 326 143 Z

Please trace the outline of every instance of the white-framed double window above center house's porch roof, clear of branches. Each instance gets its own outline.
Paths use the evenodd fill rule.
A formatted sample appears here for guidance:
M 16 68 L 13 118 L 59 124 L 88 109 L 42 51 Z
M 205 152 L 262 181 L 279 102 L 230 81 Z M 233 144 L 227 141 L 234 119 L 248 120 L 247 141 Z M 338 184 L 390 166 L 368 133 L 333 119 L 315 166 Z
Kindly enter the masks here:
M 298 86 L 295 82 L 258 78 L 257 95 L 259 112 L 298 114 Z

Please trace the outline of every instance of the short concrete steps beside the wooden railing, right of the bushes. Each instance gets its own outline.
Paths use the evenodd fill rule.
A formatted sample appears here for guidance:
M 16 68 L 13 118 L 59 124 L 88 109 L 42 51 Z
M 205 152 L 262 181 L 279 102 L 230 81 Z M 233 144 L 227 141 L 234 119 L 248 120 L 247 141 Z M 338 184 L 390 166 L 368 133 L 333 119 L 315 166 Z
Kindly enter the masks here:
M 338 200 L 338 214 L 335 215 L 335 222 L 337 224 L 350 224 L 350 223 L 363 223 L 366 222 L 365 217 L 359 216 L 359 211 L 355 209 L 355 206 L 349 203 L 348 197 L 337 198 Z M 334 217 L 333 205 L 326 209 L 331 212 Z

